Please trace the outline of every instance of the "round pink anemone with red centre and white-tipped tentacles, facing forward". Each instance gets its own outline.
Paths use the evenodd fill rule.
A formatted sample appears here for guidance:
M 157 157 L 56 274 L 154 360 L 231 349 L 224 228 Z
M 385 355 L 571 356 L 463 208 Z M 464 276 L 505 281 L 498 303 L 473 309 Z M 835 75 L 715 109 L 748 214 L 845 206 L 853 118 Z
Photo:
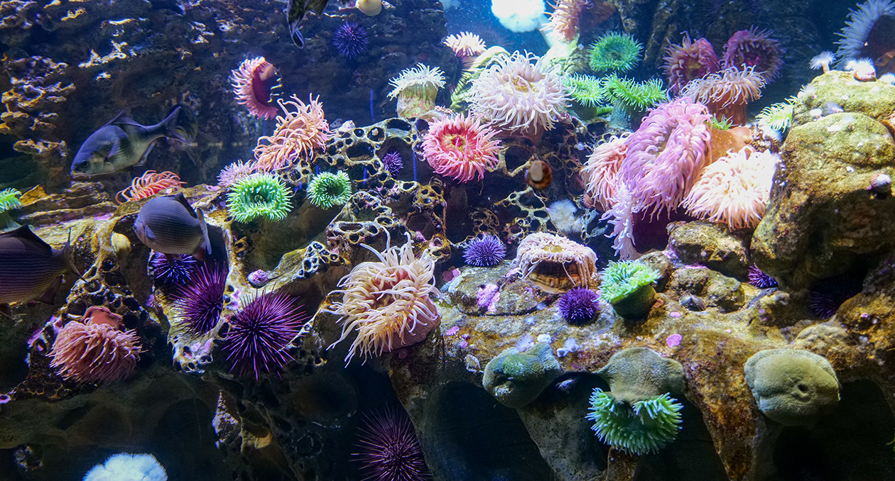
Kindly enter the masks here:
M 500 142 L 497 132 L 478 119 L 457 114 L 433 122 L 422 139 L 422 155 L 435 173 L 467 182 L 482 179 L 497 168 Z

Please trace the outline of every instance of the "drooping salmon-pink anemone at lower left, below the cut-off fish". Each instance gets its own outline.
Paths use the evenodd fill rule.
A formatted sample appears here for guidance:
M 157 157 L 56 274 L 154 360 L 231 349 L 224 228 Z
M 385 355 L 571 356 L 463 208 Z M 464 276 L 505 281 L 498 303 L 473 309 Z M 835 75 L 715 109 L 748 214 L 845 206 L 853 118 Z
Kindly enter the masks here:
M 122 331 L 121 316 L 107 308 L 88 308 L 81 321 L 69 321 L 56 334 L 50 367 L 81 383 L 111 383 L 131 376 L 141 352 L 136 331 Z

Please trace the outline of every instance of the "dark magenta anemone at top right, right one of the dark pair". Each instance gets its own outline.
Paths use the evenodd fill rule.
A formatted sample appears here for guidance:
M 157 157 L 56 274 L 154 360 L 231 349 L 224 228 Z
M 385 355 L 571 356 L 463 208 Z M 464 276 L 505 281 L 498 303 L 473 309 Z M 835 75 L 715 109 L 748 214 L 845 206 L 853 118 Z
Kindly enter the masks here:
M 725 69 L 737 68 L 746 70 L 751 67 L 761 75 L 765 82 L 780 77 L 780 66 L 783 65 L 783 47 L 780 40 L 768 37 L 768 30 L 739 30 L 734 33 L 724 46 L 721 65 Z

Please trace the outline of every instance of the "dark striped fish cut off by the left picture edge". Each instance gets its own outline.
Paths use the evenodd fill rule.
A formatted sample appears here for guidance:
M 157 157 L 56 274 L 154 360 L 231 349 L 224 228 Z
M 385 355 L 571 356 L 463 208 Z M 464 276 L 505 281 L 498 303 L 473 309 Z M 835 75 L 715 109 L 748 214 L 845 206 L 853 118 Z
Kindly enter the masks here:
M 0 233 L 0 312 L 12 317 L 12 302 L 52 304 L 62 274 L 81 276 L 70 251 L 71 240 L 63 249 L 53 249 L 27 225 Z

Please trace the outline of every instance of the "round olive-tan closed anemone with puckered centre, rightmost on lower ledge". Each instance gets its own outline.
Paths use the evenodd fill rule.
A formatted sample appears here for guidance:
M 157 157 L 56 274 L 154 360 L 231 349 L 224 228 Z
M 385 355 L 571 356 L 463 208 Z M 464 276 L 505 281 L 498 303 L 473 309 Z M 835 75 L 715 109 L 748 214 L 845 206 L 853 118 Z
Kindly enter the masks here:
M 839 404 L 836 371 L 814 352 L 760 350 L 744 369 L 758 409 L 783 426 L 813 425 Z

